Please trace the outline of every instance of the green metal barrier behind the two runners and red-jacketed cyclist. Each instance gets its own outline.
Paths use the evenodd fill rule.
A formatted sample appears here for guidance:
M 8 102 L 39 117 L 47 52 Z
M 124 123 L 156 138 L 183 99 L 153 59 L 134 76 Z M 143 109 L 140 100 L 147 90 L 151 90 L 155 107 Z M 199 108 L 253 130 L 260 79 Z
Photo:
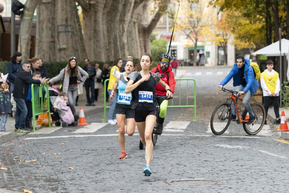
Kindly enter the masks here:
M 172 105 L 167 106 L 168 108 L 194 108 L 194 121 L 197 121 L 197 105 L 196 105 L 196 96 L 197 96 L 197 91 L 196 91 L 196 80 L 194 80 L 193 78 L 176 78 L 176 81 L 179 81 L 179 105 L 174 105 L 174 101 L 173 99 L 171 99 L 172 101 Z M 106 109 L 109 109 L 110 106 L 106 106 L 106 92 L 105 89 L 106 88 L 106 82 L 109 81 L 109 79 L 106 79 L 104 81 L 104 92 L 102 93 L 104 95 L 104 115 L 103 115 L 103 122 L 106 122 Z M 181 82 L 182 81 L 187 81 L 186 84 L 186 105 L 181 105 Z M 189 97 L 189 81 L 194 81 L 194 104 L 188 104 L 188 97 Z M 177 85 L 177 84 L 176 84 Z M 175 94 L 173 94 L 173 96 L 175 96 Z

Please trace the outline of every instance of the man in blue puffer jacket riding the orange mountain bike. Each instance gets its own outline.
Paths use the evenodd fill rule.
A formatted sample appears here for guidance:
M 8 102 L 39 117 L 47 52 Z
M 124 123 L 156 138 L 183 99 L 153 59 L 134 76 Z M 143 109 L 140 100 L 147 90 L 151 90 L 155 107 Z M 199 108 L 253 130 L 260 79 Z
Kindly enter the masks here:
M 256 117 L 254 112 L 249 104 L 250 99 L 257 91 L 259 84 L 255 78 L 253 67 L 250 65 L 250 60 L 244 58 L 242 55 L 238 55 L 236 57 L 236 63 L 231 69 L 230 73 L 224 78 L 224 80 L 220 83 L 220 90 L 223 88 L 225 84 L 227 84 L 233 78 L 233 86 L 239 86 L 237 88 L 238 96 L 247 93 L 243 98 L 243 105 L 247 109 L 250 118 L 247 124 L 252 124 Z M 236 119 L 236 107 L 232 104 L 232 115 L 231 119 Z

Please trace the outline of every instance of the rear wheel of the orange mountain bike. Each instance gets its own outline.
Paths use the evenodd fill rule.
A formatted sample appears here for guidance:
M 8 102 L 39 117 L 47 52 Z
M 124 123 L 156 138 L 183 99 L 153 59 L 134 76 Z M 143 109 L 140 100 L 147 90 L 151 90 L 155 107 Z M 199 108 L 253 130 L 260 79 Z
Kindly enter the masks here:
M 253 124 L 247 125 L 247 123 L 243 123 L 243 128 L 246 133 L 249 135 L 256 135 L 257 133 L 260 132 L 260 130 L 263 128 L 264 123 L 265 123 L 265 109 L 264 106 L 260 103 L 254 103 L 251 105 L 252 110 L 256 116 L 256 121 Z M 246 119 L 248 111 L 245 110 L 242 120 L 248 120 L 248 117 Z

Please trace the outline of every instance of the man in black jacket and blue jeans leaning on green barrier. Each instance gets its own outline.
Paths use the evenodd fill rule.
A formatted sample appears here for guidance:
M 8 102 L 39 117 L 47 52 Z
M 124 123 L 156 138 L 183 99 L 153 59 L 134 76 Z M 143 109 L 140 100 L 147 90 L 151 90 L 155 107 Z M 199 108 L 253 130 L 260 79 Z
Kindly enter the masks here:
M 25 119 L 27 116 L 27 107 L 25 100 L 28 95 L 29 84 L 44 84 L 45 79 L 33 80 L 30 72 L 31 65 L 24 63 L 22 65 L 23 71 L 20 71 L 15 79 L 15 87 L 13 97 L 16 102 L 15 113 L 15 130 L 14 132 L 30 132 L 25 128 Z

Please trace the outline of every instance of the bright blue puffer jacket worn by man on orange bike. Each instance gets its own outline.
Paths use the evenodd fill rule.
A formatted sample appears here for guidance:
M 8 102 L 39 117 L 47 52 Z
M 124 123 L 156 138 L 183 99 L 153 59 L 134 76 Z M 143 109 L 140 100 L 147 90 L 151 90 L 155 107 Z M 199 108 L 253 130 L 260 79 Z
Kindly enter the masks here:
M 245 58 L 245 69 L 244 69 L 244 77 L 247 82 L 246 87 L 244 88 L 244 91 L 247 93 L 248 90 L 251 92 L 251 96 L 254 95 L 254 93 L 257 91 L 259 84 L 254 76 L 254 70 L 253 67 L 250 65 L 250 60 Z M 239 68 L 237 66 L 237 63 L 234 64 L 234 67 L 231 69 L 230 73 L 224 78 L 224 80 L 219 84 L 224 86 L 227 84 L 232 78 L 233 78 L 233 86 L 239 86 L 241 85 L 241 81 L 238 75 Z

